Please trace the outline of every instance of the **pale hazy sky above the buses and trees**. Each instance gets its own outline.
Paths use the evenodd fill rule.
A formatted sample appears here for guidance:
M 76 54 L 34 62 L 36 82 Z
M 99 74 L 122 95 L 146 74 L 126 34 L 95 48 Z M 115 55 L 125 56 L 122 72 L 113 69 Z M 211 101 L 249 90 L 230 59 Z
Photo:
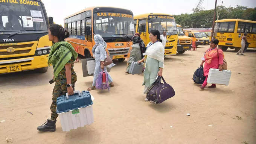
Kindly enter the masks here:
M 91 6 L 113 6 L 130 9 L 133 15 L 144 13 L 191 14 L 199 0 L 42 0 L 48 17 L 53 17 L 57 24 L 64 24 L 64 18 Z M 217 1 L 217 6 L 222 0 Z M 215 0 L 203 0 L 201 7 L 214 9 Z M 256 0 L 223 0 L 223 6 L 236 5 L 256 7 Z

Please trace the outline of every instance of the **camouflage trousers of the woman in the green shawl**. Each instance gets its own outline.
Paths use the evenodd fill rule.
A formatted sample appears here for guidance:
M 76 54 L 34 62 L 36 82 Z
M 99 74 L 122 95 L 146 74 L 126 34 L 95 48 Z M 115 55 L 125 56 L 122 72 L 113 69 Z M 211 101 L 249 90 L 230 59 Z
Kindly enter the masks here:
M 73 90 L 75 91 L 75 82 L 76 82 L 76 74 L 72 74 L 72 87 Z M 52 105 L 50 106 L 51 110 L 51 120 L 56 120 L 58 117 L 58 114 L 56 112 L 57 108 L 57 98 L 60 97 L 61 95 L 66 95 L 67 93 L 67 79 L 66 75 L 65 77 L 57 77 L 55 79 L 55 86 L 52 91 Z

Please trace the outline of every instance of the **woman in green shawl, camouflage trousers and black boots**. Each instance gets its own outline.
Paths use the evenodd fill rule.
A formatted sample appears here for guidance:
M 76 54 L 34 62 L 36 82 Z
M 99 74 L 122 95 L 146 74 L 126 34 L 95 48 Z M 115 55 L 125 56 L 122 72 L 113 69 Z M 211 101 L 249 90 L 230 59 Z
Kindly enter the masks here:
M 50 49 L 50 55 L 48 59 L 49 65 L 53 66 L 53 80 L 55 86 L 53 88 L 52 105 L 50 106 L 51 118 L 47 119 L 46 123 L 37 127 L 39 131 L 56 130 L 56 101 L 61 95 L 73 95 L 76 82 L 76 73 L 73 69 L 74 61 L 78 57 L 73 46 L 65 42 L 64 39 L 69 37 L 69 32 L 58 24 L 52 24 L 48 30 L 49 40 L 55 42 Z

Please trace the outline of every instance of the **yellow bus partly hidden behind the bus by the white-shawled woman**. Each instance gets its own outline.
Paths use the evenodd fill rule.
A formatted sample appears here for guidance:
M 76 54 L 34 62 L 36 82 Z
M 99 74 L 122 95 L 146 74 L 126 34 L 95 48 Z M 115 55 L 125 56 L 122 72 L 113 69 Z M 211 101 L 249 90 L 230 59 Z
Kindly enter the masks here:
M 186 50 L 190 50 L 192 47 L 192 39 L 188 36 L 185 36 L 182 27 L 179 24 L 177 25 L 178 32 L 178 42 L 177 42 L 177 52 L 184 53 Z

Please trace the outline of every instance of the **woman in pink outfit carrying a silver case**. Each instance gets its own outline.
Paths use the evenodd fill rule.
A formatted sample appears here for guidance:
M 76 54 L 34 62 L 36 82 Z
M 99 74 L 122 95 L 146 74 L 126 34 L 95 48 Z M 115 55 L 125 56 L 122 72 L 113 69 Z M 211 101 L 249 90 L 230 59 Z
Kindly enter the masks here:
M 206 77 L 204 80 L 204 83 L 200 86 L 201 89 L 204 89 L 207 85 L 207 78 L 210 68 L 218 68 L 219 71 L 222 71 L 222 65 L 223 65 L 223 51 L 221 49 L 217 48 L 217 45 L 219 44 L 218 39 L 213 39 L 210 42 L 210 48 L 206 50 L 204 53 L 204 57 L 202 58 L 201 65 L 204 64 L 204 76 Z M 208 88 L 216 88 L 215 84 L 212 84 L 211 86 L 208 86 Z

